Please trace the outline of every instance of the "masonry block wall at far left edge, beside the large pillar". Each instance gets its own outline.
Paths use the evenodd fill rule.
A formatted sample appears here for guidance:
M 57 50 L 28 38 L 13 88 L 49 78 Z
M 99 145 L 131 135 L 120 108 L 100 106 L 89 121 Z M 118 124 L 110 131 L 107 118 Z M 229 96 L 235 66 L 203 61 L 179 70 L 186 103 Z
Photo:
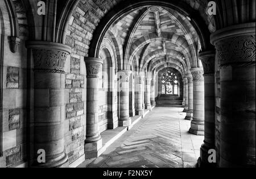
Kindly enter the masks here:
M 18 51 L 11 52 L 11 25 L 4 1 L 0 2 L 5 28 L 3 50 L 3 106 L 2 132 L 3 156 L 0 156 L 0 167 L 18 166 L 27 161 L 27 49 L 28 39 L 26 11 L 19 0 L 14 1 L 18 16 L 20 44 Z M 28 121 L 29 123 L 29 121 Z

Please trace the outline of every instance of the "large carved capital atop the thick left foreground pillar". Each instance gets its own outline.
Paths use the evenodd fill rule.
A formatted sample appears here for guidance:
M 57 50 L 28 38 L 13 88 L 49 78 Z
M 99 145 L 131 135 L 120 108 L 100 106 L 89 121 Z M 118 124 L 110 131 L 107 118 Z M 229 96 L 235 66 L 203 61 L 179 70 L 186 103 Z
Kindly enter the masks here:
M 34 70 L 65 73 L 64 65 L 71 53 L 71 47 L 49 41 L 28 41 L 26 47 L 32 49 Z

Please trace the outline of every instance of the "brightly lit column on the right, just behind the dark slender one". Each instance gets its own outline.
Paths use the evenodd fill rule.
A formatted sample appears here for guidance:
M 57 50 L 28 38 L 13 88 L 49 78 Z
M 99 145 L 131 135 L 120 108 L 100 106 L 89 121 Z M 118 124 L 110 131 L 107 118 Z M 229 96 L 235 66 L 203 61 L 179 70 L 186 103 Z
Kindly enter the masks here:
M 189 132 L 195 135 L 204 135 L 204 70 L 191 69 L 193 76 L 193 120 Z

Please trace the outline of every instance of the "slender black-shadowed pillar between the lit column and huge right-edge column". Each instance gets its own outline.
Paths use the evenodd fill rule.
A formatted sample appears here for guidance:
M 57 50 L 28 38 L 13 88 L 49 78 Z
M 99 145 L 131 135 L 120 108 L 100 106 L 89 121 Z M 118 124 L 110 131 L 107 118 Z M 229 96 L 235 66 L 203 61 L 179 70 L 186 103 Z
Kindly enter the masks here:
M 200 148 L 199 166 L 214 166 L 208 162 L 208 151 L 215 149 L 215 51 L 199 53 L 199 59 L 204 66 L 204 144 Z

